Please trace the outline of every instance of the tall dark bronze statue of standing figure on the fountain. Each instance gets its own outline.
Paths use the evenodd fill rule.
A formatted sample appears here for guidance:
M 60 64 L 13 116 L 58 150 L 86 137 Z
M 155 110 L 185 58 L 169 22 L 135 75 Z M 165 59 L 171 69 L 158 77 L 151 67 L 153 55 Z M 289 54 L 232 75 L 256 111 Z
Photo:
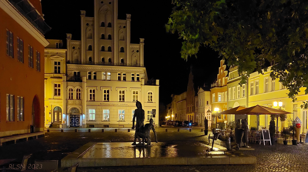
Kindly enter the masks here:
M 144 128 L 144 110 L 142 109 L 142 105 L 140 101 L 136 101 L 136 107 L 134 117 L 133 117 L 133 126 L 132 129 L 135 128 L 135 117 L 136 117 L 136 131 L 135 131 L 135 138 L 134 138 L 134 143 L 132 145 L 136 145 L 136 139 L 137 139 L 137 132 L 142 132 Z M 141 144 L 140 137 L 138 137 L 139 144 Z M 144 140 L 144 138 L 143 138 Z

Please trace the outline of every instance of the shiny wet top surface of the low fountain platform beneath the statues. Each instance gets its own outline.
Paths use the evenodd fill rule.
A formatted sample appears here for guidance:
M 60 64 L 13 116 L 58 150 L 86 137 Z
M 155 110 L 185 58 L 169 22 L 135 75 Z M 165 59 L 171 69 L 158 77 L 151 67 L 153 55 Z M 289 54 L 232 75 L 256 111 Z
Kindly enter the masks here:
M 159 142 L 151 146 L 132 146 L 131 142 L 96 143 L 80 158 L 207 157 L 227 156 L 223 151 L 200 142 Z

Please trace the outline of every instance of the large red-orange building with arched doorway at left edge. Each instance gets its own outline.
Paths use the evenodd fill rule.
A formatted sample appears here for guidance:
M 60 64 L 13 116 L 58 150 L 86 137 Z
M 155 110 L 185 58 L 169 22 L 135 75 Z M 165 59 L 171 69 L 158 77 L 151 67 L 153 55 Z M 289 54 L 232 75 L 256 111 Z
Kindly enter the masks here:
M 43 34 L 50 28 L 39 0 L 22 3 L 0 1 L 0 137 L 44 130 L 44 47 L 49 43 Z

